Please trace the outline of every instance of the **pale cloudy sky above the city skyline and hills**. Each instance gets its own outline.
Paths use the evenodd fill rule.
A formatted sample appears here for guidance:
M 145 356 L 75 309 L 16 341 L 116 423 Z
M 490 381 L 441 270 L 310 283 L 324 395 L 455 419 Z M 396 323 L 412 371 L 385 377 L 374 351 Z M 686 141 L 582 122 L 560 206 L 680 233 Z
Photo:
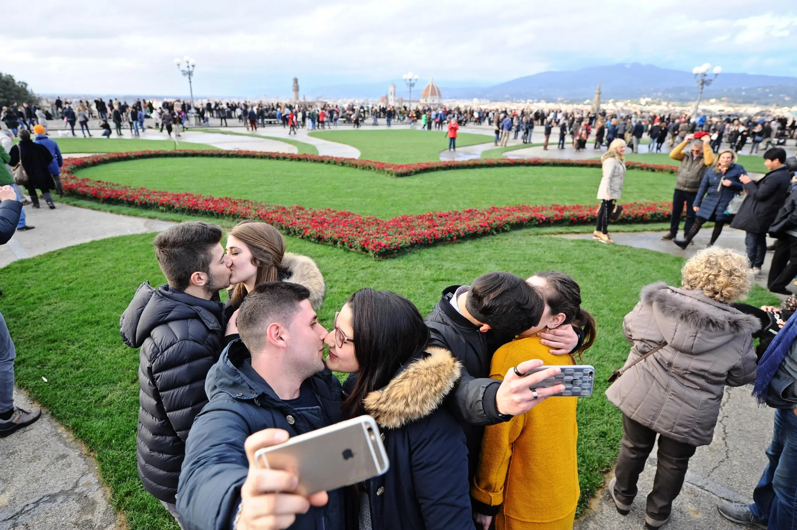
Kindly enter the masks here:
M 496 84 L 642 62 L 797 77 L 797 2 L 37 0 L 5 2 L 0 71 L 40 93 L 287 96 L 409 70 Z M 16 21 L 11 24 L 8 21 Z

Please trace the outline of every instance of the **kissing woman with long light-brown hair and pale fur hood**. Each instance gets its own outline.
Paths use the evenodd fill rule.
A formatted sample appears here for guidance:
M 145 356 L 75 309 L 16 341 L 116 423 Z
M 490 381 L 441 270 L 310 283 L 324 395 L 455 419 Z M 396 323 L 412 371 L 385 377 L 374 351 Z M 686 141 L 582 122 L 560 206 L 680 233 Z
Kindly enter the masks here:
M 324 277 L 307 256 L 285 252 L 285 238 L 267 222 L 241 221 L 227 233 L 227 254 L 232 261 L 230 290 L 224 308 L 230 322 L 227 335 L 238 333 L 233 313 L 246 295 L 266 281 L 291 281 L 310 289 L 310 304 L 318 311 L 324 303 Z

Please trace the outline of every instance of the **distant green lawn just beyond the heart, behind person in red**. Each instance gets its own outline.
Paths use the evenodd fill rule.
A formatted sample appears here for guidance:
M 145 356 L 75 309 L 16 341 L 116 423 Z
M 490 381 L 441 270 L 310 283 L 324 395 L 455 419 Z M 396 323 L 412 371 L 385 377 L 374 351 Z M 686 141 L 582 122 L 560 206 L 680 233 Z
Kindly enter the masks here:
M 390 163 L 430 162 L 440 159 L 448 149 L 446 131 L 316 131 L 311 136 L 331 142 L 347 143 L 359 149 L 359 158 Z M 488 143 L 493 136 L 460 132 L 457 147 Z

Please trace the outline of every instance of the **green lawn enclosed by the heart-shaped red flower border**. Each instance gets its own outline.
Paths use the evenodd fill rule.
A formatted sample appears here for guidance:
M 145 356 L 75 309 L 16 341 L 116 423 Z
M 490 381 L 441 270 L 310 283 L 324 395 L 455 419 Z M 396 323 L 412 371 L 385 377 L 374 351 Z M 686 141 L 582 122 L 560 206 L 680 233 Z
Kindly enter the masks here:
M 381 218 L 519 203 L 591 204 L 597 202 L 601 179 L 600 168 L 580 167 L 487 167 L 398 179 L 319 163 L 215 158 L 132 160 L 89 167 L 77 175 L 153 190 L 329 207 Z M 675 175 L 629 171 L 622 201 L 667 200 L 674 182 Z

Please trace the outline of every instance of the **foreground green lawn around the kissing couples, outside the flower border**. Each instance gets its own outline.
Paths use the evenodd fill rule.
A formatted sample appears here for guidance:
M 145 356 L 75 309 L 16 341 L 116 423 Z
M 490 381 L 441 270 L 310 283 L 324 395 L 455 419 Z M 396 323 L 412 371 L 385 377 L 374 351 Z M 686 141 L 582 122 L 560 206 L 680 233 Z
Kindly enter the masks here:
M 327 328 L 347 296 L 365 286 L 399 292 L 426 314 L 446 286 L 468 283 L 491 270 L 527 276 L 559 269 L 575 277 L 584 307 L 599 325 L 595 347 L 584 356 L 597 370 L 595 395 L 580 399 L 578 410 L 583 507 L 603 484 L 602 471 L 613 465 L 622 434 L 618 410 L 603 397 L 607 375 L 622 365 L 629 348 L 622 336 L 622 317 L 633 308 L 642 285 L 659 280 L 677 284 L 681 260 L 535 234 L 518 230 L 391 260 L 296 238 L 286 241 L 289 251 L 311 256 L 324 273 L 328 293 L 320 319 Z M 152 237 L 93 241 L 0 269 L 0 311 L 17 346 L 18 384 L 96 453 L 113 503 L 125 512 L 133 530 L 177 528 L 160 503 L 144 492 L 136 473 L 139 361 L 137 352 L 119 337 L 119 316 L 139 283 L 163 282 Z M 754 304 L 775 302 L 760 288 L 751 299 Z

